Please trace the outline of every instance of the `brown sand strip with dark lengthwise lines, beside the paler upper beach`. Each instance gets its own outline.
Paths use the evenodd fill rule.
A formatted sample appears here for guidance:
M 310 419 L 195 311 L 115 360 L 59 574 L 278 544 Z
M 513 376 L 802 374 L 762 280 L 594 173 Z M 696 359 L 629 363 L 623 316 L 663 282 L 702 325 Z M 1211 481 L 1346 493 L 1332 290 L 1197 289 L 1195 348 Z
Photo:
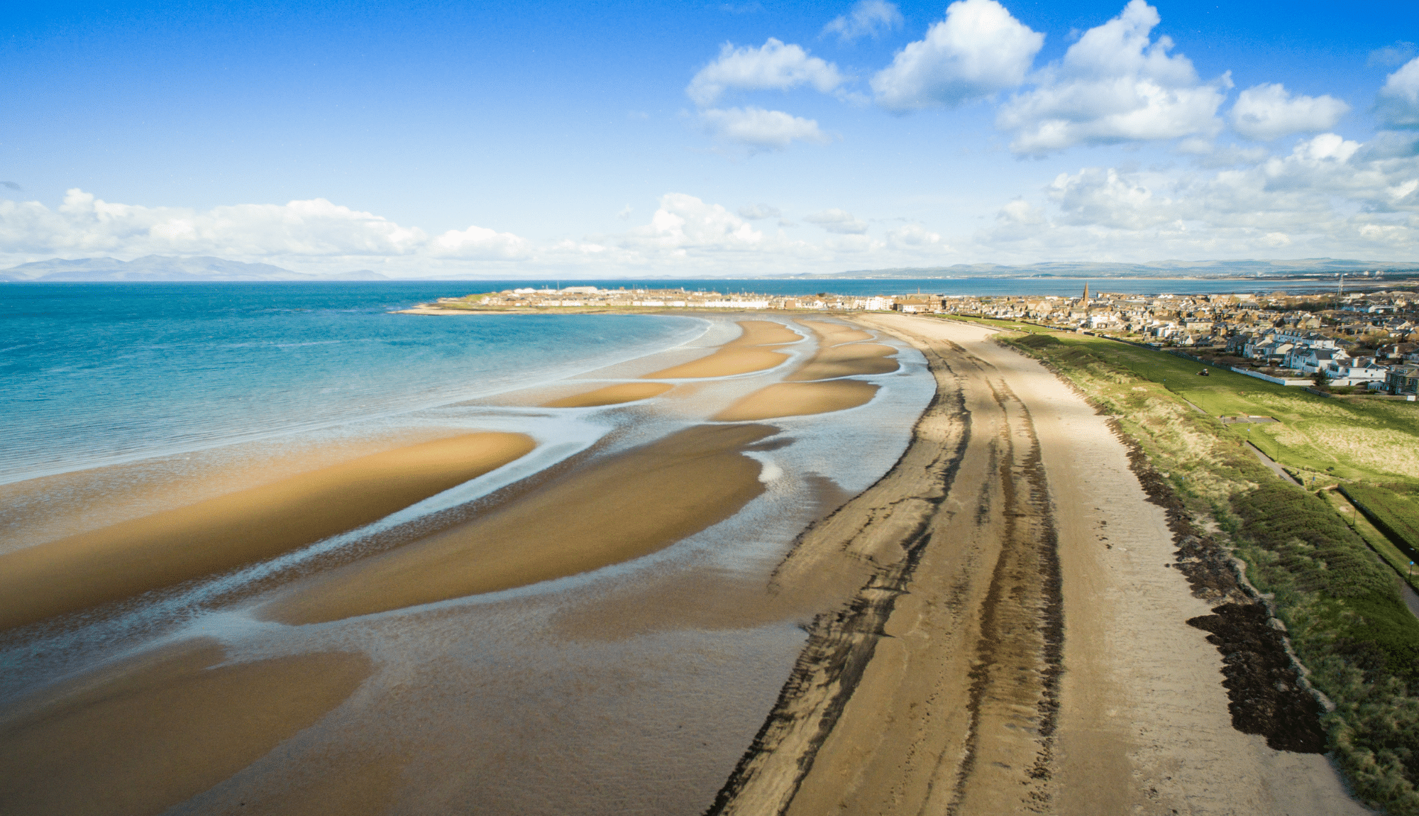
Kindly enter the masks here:
M 866 580 L 813 622 L 710 813 L 1049 806 L 1063 600 L 1039 439 L 993 366 L 894 331 L 927 355 L 937 397 L 897 465 L 775 573 Z

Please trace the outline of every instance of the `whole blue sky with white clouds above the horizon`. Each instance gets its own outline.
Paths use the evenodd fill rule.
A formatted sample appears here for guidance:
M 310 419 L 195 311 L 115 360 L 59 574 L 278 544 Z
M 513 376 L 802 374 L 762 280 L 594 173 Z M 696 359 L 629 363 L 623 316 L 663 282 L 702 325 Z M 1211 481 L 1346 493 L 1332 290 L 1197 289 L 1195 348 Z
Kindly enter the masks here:
M 1419 11 L 1352 9 L 13 4 L 0 261 L 1419 260 Z

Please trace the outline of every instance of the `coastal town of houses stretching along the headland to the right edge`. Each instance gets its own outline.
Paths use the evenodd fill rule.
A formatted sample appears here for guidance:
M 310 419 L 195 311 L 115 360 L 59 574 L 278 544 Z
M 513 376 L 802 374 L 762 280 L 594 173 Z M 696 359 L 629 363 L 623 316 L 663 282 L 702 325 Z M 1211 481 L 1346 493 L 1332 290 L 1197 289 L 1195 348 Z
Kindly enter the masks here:
M 1172 349 L 1277 385 L 1419 393 L 1419 292 L 1131 295 L 765 295 L 687 288 L 515 288 L 440 298 L 457 311 L 806 309 L 986 318 Z

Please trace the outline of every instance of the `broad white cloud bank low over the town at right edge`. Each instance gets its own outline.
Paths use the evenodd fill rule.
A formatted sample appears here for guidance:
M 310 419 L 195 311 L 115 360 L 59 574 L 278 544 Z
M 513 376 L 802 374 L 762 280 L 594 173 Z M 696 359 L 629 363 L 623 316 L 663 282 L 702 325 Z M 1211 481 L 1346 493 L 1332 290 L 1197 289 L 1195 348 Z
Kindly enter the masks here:
M 1044 207 L 1007 203 L 976 244 L 1094 260 L 1409 257 L 1419 250 L 1419 153 L 1416 139 L 1395 140 L 1320 133 L 1213 173 L 1083 167 L 1044 187 Z

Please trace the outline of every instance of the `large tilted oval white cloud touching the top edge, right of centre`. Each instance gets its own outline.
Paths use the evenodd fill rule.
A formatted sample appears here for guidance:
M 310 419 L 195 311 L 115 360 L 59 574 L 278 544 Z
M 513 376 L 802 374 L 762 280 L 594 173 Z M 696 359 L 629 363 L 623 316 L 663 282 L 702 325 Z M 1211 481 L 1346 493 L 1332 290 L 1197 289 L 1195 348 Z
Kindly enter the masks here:
M 873 77 L 873 92 L 888 111 L 954 108 L 1019 85 L 1043 44 L 995 0 L 958 0 Z

